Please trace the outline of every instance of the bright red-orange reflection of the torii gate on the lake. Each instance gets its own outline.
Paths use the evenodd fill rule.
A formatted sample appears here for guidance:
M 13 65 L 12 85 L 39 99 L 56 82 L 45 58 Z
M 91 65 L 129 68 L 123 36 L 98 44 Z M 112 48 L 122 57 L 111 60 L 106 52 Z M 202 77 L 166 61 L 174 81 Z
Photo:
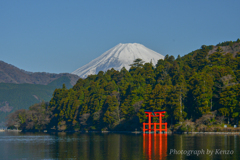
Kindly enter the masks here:
M 143 134 L 143 153 L 149 160 L 165 160 L 167 157 L 167 134 Z

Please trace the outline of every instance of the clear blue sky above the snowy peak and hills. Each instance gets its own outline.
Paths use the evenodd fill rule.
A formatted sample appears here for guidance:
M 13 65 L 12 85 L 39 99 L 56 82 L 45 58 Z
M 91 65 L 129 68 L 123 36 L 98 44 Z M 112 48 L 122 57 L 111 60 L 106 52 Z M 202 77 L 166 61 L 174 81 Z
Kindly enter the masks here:
M 119 43 L 181 56 L 240 38 L 239 0 L 2 0 L 0 60 L 63 73 Z

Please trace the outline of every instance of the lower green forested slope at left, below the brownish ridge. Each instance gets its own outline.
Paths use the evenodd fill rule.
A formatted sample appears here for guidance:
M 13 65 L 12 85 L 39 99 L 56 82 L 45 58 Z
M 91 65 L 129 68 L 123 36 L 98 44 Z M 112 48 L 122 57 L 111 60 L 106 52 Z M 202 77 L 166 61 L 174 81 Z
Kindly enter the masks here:
M 31 105 L 41 101 L 50 101 L 56 88 L 71 88 L 70 79 L 62 76 L 48 85 L 0 83 L 0 126 L 5 117 L 18 110 L 28 109 Z

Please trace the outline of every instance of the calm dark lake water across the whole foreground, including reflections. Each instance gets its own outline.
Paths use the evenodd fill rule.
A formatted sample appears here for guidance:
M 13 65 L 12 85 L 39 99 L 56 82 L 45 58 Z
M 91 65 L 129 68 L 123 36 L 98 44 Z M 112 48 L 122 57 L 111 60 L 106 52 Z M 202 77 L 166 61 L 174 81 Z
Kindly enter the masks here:
M 240 135 L 0 133 L 0 159 L 240 159 Z

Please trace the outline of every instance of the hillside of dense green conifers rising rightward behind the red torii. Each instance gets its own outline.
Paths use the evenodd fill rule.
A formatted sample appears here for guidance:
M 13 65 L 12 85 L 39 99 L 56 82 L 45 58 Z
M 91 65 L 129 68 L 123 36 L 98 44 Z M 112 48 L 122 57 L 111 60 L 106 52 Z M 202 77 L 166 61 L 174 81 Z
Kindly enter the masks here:
M 156 66 L 136 59 L 129 71 L 100 71 L 79 79 L 71 89 L 65 85 L 55 89 L 49 104 L 18 111 L 12 119 L 18 119 L 20 127 L 28 130 L 135 130 L 141 129 L 147 109 L 166 110 L 169 127 L 186 121 L 209 124 L 217 119 L 237 124 L 240 40 L 231 42 L 236 46 L 234 53 L 223 51 L 229 43 L 203 45 L 176 59 L 166 55 Z M 207 119 L 210 122 L 201 119 L 206 115 L 212 116 Z M 8 126 L 14 124 L 16 120 Z

